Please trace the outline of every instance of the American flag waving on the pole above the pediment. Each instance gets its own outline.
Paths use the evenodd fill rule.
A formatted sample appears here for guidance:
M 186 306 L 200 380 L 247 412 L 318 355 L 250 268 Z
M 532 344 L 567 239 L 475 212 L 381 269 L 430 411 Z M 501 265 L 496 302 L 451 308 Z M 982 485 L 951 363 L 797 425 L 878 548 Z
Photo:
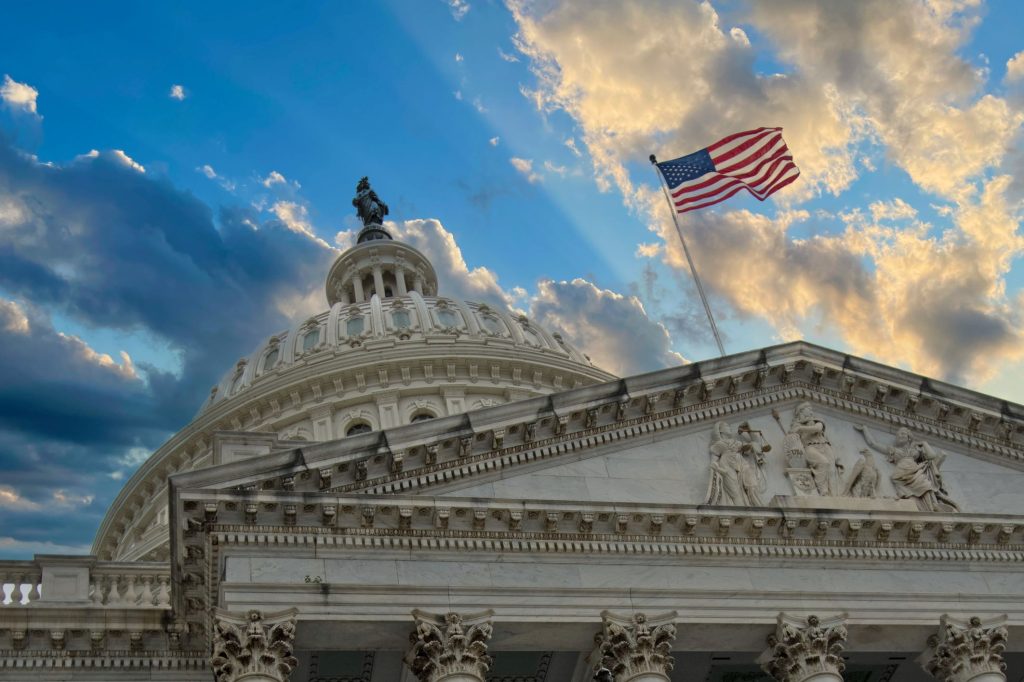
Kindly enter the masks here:
M 764 201 L 800 175 L 781 128 L 758 128 L 657 164 L 679 213 L 725 201 L 740 189 Z

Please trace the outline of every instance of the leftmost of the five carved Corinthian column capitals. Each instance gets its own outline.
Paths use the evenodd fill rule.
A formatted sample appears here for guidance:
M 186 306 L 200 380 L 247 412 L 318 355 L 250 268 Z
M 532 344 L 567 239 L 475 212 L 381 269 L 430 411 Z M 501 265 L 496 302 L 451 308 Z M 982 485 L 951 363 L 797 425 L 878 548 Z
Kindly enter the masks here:
M 298 609 L 263 613 L 213 611 L 213 668 L 217 682 L 288 682 Z

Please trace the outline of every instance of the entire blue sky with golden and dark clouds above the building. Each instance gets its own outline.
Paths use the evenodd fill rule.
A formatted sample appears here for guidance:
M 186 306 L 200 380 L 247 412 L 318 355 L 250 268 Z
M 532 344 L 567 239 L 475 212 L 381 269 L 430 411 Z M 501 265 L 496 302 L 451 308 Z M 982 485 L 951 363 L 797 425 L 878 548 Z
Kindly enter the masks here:
M 220 374 L 326 306 L 362 175 L 447 293 L 630 374 L 716 352 L 647 155 L 781 125 L 796 184 L 682 222 L 727 350 L 1024 401 L 1019 3 L 768 4 L 6 7 L 0 556 L 87 547 Z

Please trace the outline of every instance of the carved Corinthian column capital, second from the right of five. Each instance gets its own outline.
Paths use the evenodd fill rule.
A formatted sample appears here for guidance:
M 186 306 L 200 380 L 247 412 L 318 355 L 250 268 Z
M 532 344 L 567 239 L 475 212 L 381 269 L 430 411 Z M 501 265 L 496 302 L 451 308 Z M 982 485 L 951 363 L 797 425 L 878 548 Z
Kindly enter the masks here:
M 778 682 L 842 682 L 845 646 L 846 613 L 824 621 L 779 613 L 758 663 Z

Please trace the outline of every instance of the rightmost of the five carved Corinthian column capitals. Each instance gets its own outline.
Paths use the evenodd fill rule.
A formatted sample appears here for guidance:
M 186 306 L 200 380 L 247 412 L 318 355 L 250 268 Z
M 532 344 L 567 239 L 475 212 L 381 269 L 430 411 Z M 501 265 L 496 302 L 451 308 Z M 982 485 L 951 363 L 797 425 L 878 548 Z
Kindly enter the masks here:
M 943 615 L 919 660 L 939 682 L 1006 682 L 1007 616 L 968 621 Z

